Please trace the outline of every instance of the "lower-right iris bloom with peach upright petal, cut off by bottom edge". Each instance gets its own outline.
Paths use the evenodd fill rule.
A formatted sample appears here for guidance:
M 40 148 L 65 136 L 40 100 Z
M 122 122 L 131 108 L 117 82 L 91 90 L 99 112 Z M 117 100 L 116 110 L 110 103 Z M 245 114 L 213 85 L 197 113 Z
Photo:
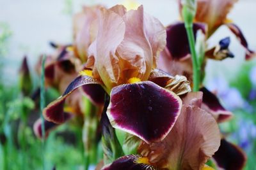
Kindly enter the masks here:
M 157 143 L 140 143 L 138 155 L 126 155 L 103 167 L 126 169 L 212 169 L 205 162 L 220 146 L 220 131 L 214 118 L 200 108 L 202 92 L 182 97 L 182 110 L 172 131 Z

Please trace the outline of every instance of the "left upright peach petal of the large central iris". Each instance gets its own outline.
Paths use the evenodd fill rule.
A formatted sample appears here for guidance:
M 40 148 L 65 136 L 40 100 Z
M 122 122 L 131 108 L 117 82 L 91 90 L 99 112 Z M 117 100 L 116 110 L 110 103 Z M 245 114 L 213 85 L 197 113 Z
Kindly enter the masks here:
M 97 57 L 94 58 L 96 67 L 93 69 L 97 69 L 100 78 L 109 89 L 118 82 L 120 76 L 116 48 L 124 39 L 124 34 L 125 23 L 122 17 L 114 11 L 101 8 L 96 39 Z

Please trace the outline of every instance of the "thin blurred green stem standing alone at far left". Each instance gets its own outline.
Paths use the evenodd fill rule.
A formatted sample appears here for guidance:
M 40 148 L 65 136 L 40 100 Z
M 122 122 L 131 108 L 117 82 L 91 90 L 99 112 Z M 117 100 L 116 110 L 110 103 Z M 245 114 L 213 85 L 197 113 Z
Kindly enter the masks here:
M 42 66 L 41 66 L 41 81 L 40 81 L 40 118 L 42 120 L 42 163 L 43 163 L 43 169 L 45 169 L 45 157 L 44 157 L 44 152 L 45 152 L 45 127 L 44 127 L 44 117 L 43 117 L 43 110 L 45 107 L 45 56 L 42 59 Z

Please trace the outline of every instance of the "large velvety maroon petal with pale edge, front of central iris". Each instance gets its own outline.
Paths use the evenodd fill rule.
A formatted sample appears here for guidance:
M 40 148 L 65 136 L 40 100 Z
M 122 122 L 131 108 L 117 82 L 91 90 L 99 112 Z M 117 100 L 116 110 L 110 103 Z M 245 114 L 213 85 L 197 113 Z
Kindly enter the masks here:
M 107 115 L 113 127 L 152 143 L 171 131 L 181 105 L 179 96 L 170 90 L 142 81 L 114 87 Z

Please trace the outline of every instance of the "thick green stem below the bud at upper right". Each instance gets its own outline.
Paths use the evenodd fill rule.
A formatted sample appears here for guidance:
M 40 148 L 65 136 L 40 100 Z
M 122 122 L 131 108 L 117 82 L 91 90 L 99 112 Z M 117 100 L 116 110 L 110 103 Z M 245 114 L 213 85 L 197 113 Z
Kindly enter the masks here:
M 193 25 L 185 24 L 185 27 L 186 27 L 186 32 L 188 34 L 189 48 L 190 48 L 192 63 L 193 63 L 193 91 L 197 92 L 200 87 L 200 70 L 201 69 L 200 69 L 200 64 L 198 63 L 198 60 L 196 57 Z

